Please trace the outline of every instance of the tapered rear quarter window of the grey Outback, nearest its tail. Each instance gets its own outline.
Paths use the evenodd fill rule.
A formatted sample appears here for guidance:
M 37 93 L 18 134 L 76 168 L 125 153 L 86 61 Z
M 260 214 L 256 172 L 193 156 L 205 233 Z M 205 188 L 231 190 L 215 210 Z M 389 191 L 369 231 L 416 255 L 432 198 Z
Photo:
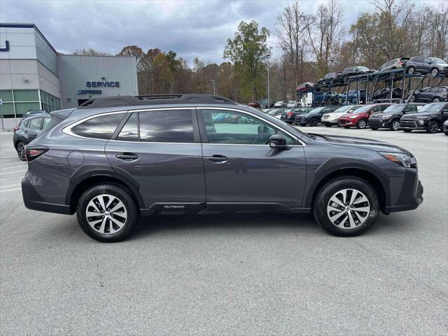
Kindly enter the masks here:
M 124 115 L 125 113 L 115 113 L 95 117 L 73 127 L 71 132 L 80 137 L 109 140 Z

